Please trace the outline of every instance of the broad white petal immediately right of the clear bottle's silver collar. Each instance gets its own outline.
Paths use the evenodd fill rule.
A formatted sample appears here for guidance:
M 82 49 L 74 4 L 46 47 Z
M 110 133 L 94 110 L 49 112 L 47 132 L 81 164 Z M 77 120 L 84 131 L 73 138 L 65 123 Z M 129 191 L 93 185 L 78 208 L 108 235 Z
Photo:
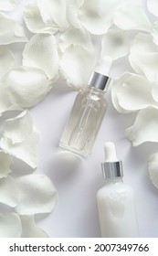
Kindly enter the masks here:
M 153 100 L 152 89 L 153 83 L 143 76 L 126 72 L 113 82 L 113 105 L 122 113 L 139 111 L 148 106 L 158 108 L 158 103 Z

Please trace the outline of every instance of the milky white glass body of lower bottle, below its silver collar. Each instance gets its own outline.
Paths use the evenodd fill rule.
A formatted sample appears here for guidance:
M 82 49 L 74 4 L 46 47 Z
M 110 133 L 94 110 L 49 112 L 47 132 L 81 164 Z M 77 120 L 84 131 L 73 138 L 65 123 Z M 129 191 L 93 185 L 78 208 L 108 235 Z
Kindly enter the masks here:
M 98 191 L 97 203 L 101 237 L 139 237 L 132 187 L 108 181 Z

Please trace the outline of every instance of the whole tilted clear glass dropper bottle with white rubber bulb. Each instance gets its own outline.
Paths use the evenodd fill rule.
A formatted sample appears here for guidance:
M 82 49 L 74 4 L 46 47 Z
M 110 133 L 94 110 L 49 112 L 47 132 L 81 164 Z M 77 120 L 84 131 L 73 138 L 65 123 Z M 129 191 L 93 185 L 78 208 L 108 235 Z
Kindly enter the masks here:
M 80 89 L 59 146 L 73 153 L 88 156 L 107 110 L 105 93 L 111 79 L 105 75 L 111 59 L 103 59 L 90 77 L 88 86 Z

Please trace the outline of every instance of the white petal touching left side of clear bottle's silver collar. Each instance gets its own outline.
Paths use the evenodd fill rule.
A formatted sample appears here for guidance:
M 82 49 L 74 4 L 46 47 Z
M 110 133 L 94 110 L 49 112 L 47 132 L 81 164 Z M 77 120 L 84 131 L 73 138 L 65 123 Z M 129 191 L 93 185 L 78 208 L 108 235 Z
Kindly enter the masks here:
M 68 85 L 77 89 L 88 83 L 95 63 L 93 50 L 82 46 L 70 46 L 61 56 L 59 69 Z

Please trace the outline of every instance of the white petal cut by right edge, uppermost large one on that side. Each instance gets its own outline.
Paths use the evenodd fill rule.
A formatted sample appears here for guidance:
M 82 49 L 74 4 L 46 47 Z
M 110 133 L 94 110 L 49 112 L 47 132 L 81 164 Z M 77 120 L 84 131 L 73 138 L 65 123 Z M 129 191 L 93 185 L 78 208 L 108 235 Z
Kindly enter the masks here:
M 151 35 L 138 34 L 129 56 L 132 68 L 148 80 L 158 82 L 158 46 Z

